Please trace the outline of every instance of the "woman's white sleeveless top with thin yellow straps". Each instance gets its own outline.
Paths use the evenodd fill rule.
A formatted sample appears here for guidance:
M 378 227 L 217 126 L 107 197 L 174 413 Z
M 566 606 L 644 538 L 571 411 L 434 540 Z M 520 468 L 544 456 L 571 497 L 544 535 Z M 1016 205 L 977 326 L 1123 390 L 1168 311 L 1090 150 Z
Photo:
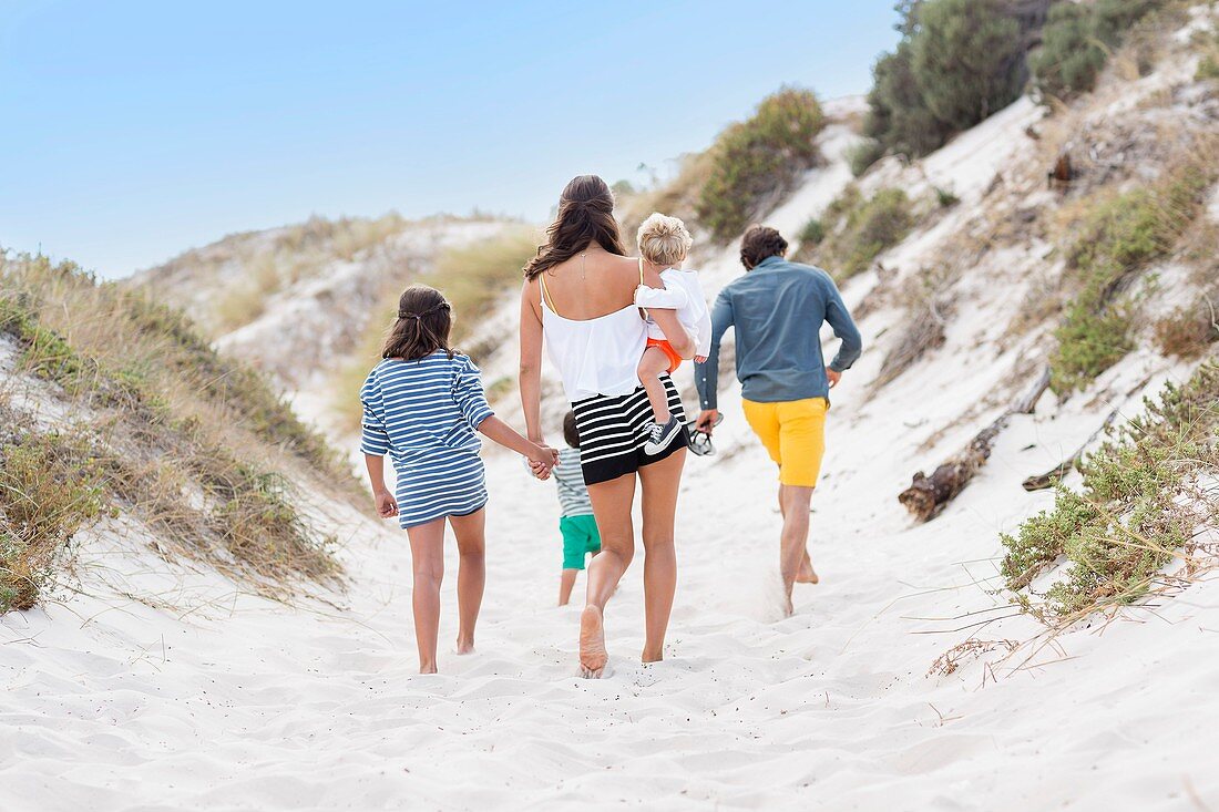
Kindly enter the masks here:
M 567 399 L 574 404 L 594 395 L 635 391 L 640 385 L 639 360 L 647 346 L 647 323 L 639 307 L 630 304 L 583 321 L 563 318 L 546 301 L 546 279 L 539 276 L 538 280 L 546 351 L 563 378 Z

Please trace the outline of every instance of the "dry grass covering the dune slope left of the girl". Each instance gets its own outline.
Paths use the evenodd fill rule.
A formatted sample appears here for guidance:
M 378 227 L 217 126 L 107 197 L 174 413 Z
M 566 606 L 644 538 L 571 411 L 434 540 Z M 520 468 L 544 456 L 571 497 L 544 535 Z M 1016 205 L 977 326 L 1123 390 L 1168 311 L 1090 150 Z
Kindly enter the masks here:
M 273 597 L 302 580 L 339 584 L 333 539 L 300 516 L 279 472 L 352 499 L 355 480 L 257 372 L 218 356 L 182 313 L 71 263 L 5 258 L 0 280 L 0 333 L 21 350 L 15 372 L 56 384 L 91 424 L 6 450 L 6 474 L 35 451 L 49 471 L 73 460 L 90 474 L 76 480 L 158 532 L 162 555 L 208 562 Z M 11 505 L 4 515 L 11 528 Z M 50 566 L 65 546 L 55 539 L 46 534 L 51 552 L 32 560 Z

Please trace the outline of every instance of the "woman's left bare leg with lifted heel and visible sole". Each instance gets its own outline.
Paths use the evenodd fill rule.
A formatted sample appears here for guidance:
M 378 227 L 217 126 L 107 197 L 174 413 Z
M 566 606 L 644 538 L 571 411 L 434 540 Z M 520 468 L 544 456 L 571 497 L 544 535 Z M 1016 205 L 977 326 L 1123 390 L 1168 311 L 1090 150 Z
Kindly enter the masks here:
M 630 522 L 635 474 L 589 485 L 589 499 L 601 530 L 601 552 L 589 562 L 589 596 L 580 614 L 580 673 L 600 678 L 610 658 L 602 612 L 635 556 L 635 530 Z

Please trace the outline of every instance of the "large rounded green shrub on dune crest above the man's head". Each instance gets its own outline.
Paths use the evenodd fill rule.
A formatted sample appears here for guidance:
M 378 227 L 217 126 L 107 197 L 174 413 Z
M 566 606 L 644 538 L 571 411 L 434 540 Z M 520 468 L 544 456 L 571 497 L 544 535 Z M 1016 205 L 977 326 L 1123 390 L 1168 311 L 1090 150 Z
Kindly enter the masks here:
M 817 165 L 814 139 L 823 126 L 820 104 L 808 90 L 785 88 L 763 99 L 712 145 L 711 172 L 695 207 L 698 221 L 717 240 L 742 232 L 767 200 Z

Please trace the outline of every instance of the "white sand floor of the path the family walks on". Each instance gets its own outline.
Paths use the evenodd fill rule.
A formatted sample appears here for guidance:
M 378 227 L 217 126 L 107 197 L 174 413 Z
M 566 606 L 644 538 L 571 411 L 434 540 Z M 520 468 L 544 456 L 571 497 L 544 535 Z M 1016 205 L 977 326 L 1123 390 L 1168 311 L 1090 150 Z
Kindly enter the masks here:
M 911 529 L 895 495 L 914 465 L 913 415 L 868 417 L 858 401 L 845 386 L 831 411 L 813 516 L 823 584 L 800 586 L 796 616 L 777 621 L 773 472 L 725 396 L 720 456 L 691 458 L 685 480 L 669 658 L 638 663 L 636 560 L 610 605 L 602 682 L 574 675 L 578 608 L 551 605 L 553 485 L 506 456 L 489 461 L 479 651 L 444 656 L 439 677 L 413 673 L 406 539 L 371 519 L 329 508 L 351 535 L 346 611 L 235 596 L 215 574 L 167 571 L 134 536 L 90 533 L 85 594 L 0 618 L 0 808 L 1219 803 L 1214 583 L 1103 636 L 1064 635 L 1034 660 L 1048 664 L 924 675 L 969 634 L 952 629 L 987 616 L 953 617 L 1002 606 L 985 591 L 996 534 L 1050 500 L 1019 479 L 1091 418 L 1023 418 L 945 516 Z M 980 636 L 1036 632 L 1009 618 Z

